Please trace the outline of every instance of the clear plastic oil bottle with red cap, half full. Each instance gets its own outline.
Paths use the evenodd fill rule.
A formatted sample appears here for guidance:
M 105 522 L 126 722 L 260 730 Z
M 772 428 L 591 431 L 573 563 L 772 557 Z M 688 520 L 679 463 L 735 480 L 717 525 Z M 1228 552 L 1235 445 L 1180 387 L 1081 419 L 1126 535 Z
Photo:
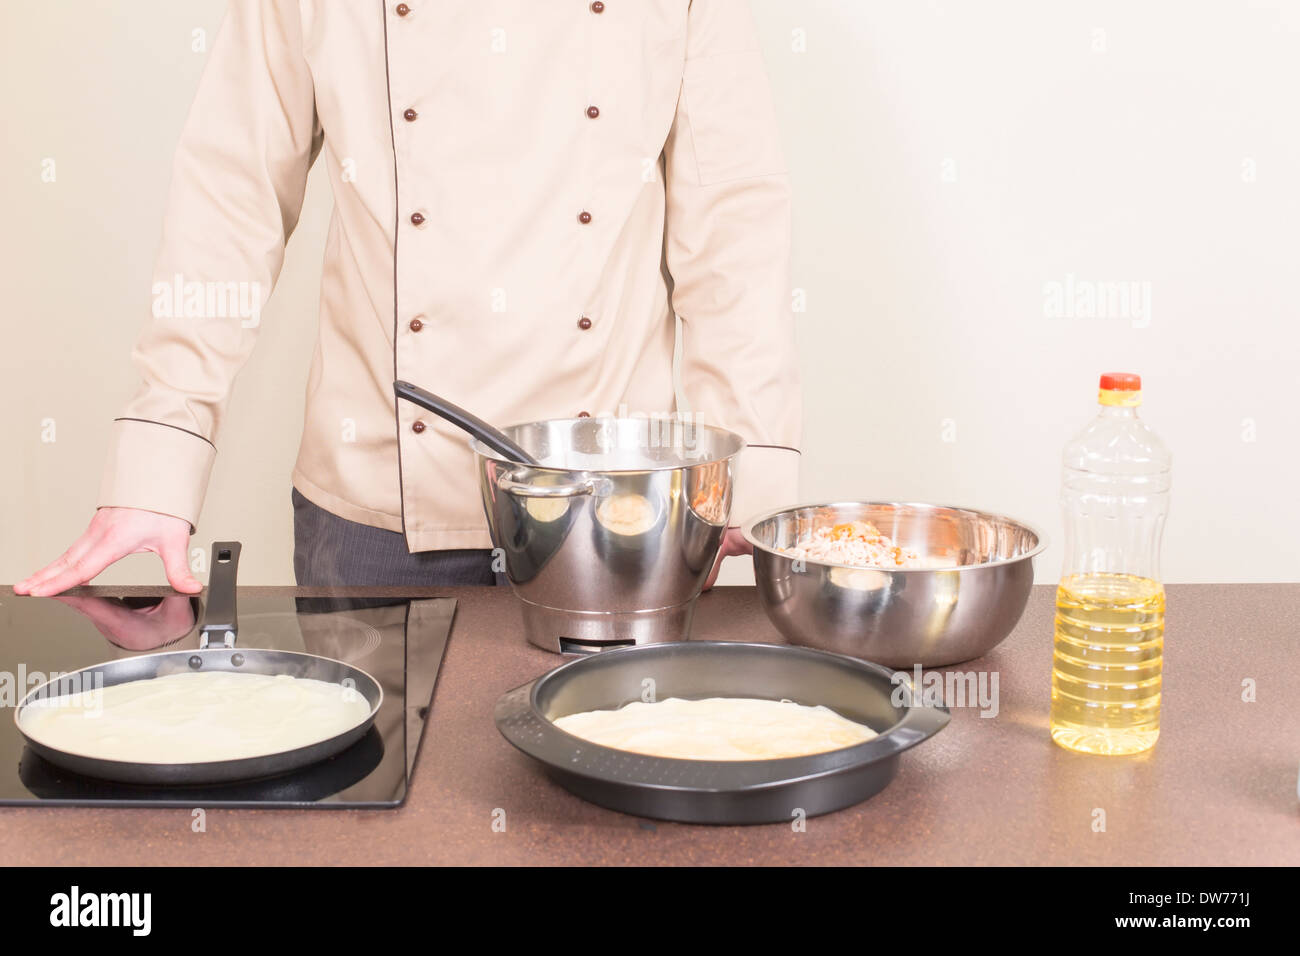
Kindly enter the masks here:
M 1097 401 L 1097 418 L 1065 447 L 1052 739 L 1082 753 L 1139 753 L 1160 735 L 1170 454 L 1138 418 L 1139 376 L 1101 376 Z

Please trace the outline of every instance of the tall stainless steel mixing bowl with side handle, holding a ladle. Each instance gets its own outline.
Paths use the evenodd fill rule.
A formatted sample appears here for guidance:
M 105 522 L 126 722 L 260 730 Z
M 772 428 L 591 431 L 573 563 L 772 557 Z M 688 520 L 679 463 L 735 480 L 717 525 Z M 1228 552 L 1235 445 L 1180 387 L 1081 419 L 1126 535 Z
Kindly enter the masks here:
M 727 528 L 744 440 L 645 418 L 502 431 L 540 462 L 504 462 L 471 442 L 528 640 L 560 653 L 685 640 Z

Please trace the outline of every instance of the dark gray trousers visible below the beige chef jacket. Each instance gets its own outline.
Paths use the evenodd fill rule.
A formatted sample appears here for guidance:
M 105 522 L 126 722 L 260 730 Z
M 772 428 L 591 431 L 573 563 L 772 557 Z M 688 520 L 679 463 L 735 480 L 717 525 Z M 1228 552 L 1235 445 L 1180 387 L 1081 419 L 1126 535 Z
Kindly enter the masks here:
M 504 584 L 488 549 L 416 551 L 395 531 L 350 522 L 307 501 L 294 501 L 294 576 L 302 588 Z

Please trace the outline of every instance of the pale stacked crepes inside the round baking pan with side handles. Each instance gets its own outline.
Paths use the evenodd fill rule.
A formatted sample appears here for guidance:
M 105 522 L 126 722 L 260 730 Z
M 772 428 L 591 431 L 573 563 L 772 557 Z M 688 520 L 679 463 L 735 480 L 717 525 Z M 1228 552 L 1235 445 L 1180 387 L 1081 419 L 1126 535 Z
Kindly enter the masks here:
M 554 723 L 601 747 L 677 760 L 805 757 L 876 736 L 827 706 L 750 697 L 633 701 L 618 710 L 559 717 Z

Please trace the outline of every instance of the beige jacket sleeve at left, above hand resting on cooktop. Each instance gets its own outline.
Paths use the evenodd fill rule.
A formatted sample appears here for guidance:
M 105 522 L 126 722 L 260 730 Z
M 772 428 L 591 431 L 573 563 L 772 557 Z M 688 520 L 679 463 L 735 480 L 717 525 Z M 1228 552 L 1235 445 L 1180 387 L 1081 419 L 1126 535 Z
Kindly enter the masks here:
M 234 377 L 320 151 L 296 0 L 233 0 L 172 168 L 143 384 L 113 423 L 99 507 L 198 523 Z

